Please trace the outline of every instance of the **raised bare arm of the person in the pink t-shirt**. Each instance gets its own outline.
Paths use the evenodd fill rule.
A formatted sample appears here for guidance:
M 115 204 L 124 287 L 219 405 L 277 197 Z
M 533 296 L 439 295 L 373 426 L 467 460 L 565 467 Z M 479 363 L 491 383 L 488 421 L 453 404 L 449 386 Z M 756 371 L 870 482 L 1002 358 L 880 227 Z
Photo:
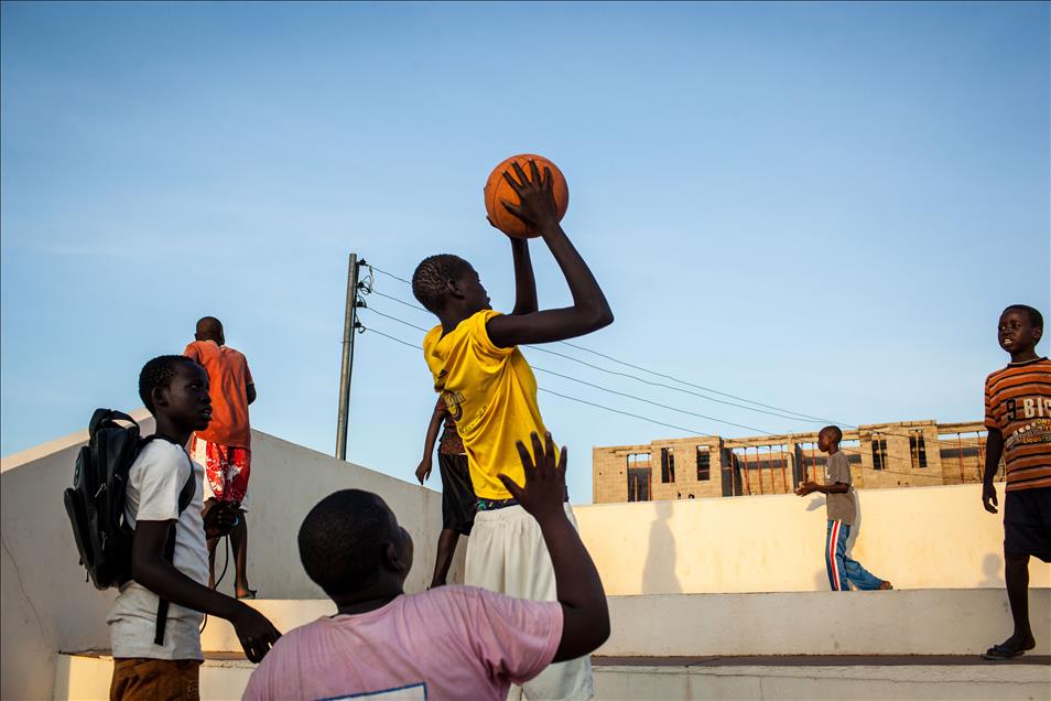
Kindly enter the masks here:
M 609 637 L 609 608 L 598 570 L 565 514 L 565 447 L 556 455 L 551 434 L 532 434 L 533 454 L 518 442 L 526 470 L 526 486 L 507 475 L 500 481 L 518 503 L 540 524 L 551 556 L 559 603 L 562 604 L 562 640 L 552 661 L 563 662 L 587 655 Z

